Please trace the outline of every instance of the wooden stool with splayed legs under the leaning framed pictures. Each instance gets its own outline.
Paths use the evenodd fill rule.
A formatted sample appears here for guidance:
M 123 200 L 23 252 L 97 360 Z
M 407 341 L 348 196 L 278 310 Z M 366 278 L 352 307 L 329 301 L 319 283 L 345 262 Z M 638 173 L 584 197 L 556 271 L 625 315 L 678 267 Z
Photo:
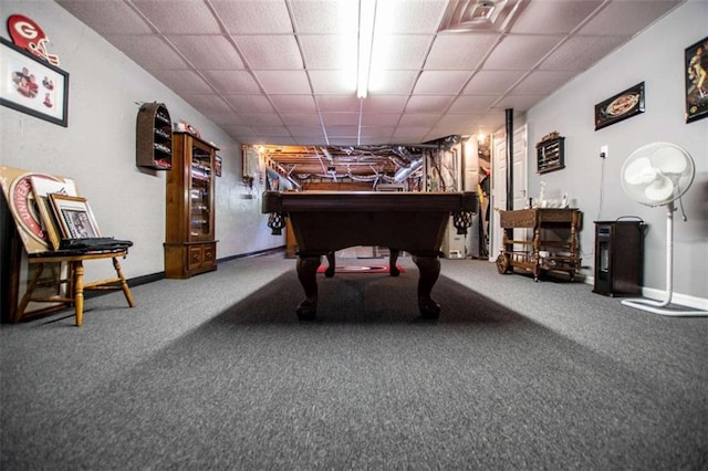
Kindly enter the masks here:
M 44 302 L 44 303 L 73 303 L 75 308 L 76 316 L 76 326 L 80 327 L 83 323 L 83 314 L 84 314 L 84 291 L 86 290 L 102 290 L 102 291 L 113 291 L 113 290 L 123 290 L 123 294 L 125 294 L 125 299 L 128 302 L 129 307 L 135 306 L 135 301 L 133 301 L 133 294 L 131 293 L 131 289 L 128 287 L 128 283 L 123 275 L 123 271 L 121 270 L 121 264 L 118 263 L 118 258 L 125 258 L 127 255 L 127 249 L 116 249 L 116 250 L 105 250 L 105 251 L 87 251 L 87 252 L 44 252 L 38 254 L 30 254 L 28 257 L 28 261 L 30 264 L 38 264 L 34 274 L 32 275 L 30 283 L 28 285 L 28 290 L 22 296 L 20 304 L 14 313 L 12 322 L 20 322 L 22 316 L 24 315 L 24 310 L 27 308 L 30 302 Z M 117 274 L 117 278 L 95 281 L 91 283 L 84 284 L 84 261 L 86 260 L 98 260 L 98 259 L 113 259 L 113 268 Z M 66 284 L 66 296 L 33 296 L 32 293 L 38 285 L 38 281 L 42 275 L 42 270 L 44 269 L 45 263 L 58 263 L 58 262 L 66 262 L 69 264 L 69 272 L 66 279 L 61 279 L 56 281 L 59 284 Z M 117 283 L 117 285 L 116 285 Z

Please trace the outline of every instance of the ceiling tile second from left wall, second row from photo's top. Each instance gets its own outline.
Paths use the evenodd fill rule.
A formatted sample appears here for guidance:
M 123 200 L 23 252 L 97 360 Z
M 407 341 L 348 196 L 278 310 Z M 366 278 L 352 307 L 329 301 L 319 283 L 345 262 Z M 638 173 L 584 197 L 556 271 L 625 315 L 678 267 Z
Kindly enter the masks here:
M 233 45 L 221 35 L 167 36 L 195 69 L 244 69 Z

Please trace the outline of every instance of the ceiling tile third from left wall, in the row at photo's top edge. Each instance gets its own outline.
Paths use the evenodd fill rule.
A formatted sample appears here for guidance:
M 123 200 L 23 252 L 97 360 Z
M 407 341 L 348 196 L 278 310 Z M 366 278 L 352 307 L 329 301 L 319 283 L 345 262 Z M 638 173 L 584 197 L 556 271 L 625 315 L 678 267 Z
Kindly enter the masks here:
M 232 34 L 293 33 L 283 0 L 209 0 L 209 3 Z

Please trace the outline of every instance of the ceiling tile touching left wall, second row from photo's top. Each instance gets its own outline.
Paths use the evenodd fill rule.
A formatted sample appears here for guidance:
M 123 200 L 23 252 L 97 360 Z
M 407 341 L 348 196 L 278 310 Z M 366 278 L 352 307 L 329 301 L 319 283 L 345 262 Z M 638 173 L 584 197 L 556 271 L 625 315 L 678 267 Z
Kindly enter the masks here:
M 144 69 L 186 69 L 187 63 L 158 36 L 106 35 L 113 45 Z

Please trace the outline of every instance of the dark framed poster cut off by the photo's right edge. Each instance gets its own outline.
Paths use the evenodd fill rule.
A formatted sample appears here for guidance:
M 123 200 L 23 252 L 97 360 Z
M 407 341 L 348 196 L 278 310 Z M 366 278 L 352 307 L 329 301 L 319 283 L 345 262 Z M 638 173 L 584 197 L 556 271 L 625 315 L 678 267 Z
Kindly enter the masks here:
M 708 116 L 708 36 L 686 48 L 686 123 Z

